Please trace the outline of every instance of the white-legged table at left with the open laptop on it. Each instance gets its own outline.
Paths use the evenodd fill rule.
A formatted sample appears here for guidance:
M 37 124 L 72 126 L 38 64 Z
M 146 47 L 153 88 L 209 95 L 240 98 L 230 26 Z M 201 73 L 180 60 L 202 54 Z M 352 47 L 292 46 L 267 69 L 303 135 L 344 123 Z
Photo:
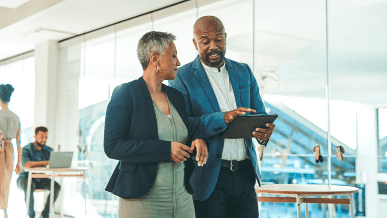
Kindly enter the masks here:
M 28 208 L 30 205 L 30 193 L 31 193 L 31 182 L 32 178 L 50 178 L 50 217 L 54 217 L 54 177 L 60 178 L 60 185 L 62 185 L 63 177 L 83 177 L 83 195 L 85 198 L 85 217 L 86 215 L 86 176 L 85 171 L 88 168 L 55 168 L 55 169 L 41 169 L 41 168 L 24 168 L 28 172 L 28 182 L 27 182 L 27 196 L 26 196 L 26 206 L 27 206 L 27 215 Z M 63 193 L 61 194 L 61 202 L 63 202 Z M 60 205 L 60 217 L 63 218 L 63 207 Z

